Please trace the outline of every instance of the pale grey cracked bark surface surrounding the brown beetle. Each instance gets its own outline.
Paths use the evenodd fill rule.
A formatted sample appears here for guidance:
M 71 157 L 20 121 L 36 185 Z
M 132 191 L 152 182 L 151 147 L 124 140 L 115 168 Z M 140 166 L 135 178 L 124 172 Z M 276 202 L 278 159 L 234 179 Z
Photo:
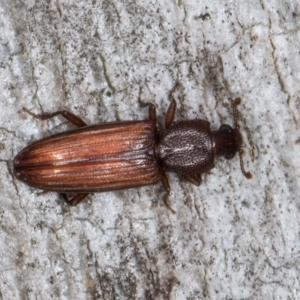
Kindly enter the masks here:
M 298 1 L 0 0 L 0 299 L 297 299 Z M 73 208 L 15 180 L 24 146 L 70 128 L 21 111 L 66 108 L 89 124 L 232 124 L 240 96 L 246 168 L 216 162 L 200 187 L 91 195 Z M 247 138 L 248 137 L 248 138 Z

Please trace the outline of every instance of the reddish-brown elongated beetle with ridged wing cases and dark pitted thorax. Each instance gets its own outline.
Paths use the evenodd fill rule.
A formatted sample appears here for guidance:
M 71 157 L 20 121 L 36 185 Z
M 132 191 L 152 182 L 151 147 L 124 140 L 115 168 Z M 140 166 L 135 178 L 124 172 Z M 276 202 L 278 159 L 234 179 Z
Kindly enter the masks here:
M 161 131 L 157 129 L 153 104 L 149 104 L 147 120 L 93 126 L 66 110 L 36 115 L 23 108 L 41 120 L 63 116 L 78 128 L 24 148 L 13 161 L 15 177 L 29 186 L 59 192 L 71 205 L 77 205 L 91 192 L 158 182 L 162 182 L 168 195 L 170 185 L 166 172 L 175 172 L 200 185 L 201 174 L 214 167 L 216 157 L 232 159 L 237 152 L 242 173 L 251 178 L 242 160 L 237 111 L 241 99 L 232 103 L 234 128 L 222 124 L 219 130 L 212 131 L 206 120 L 173 123 L 177 105 L 173 92 L 177 86 L 178 83 L 170 91 L 171 102 Z M 68 199 L 66 193 L 75 196 Z M 166 197 L 164 202 L 172 210 Z

